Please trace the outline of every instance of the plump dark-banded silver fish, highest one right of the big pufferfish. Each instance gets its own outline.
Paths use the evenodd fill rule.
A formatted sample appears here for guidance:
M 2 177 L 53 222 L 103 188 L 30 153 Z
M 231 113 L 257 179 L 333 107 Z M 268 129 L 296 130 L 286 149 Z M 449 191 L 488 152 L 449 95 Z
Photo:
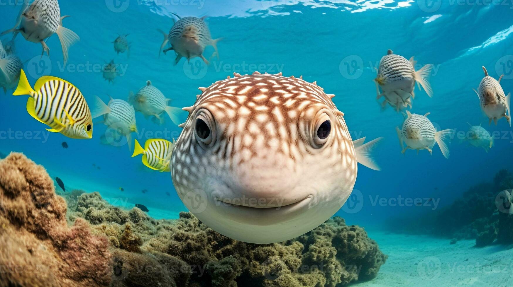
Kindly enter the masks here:
M 415 98 L 415 83 L 422 86 L 429 97 L 433 96 L 431 85 L 428 82 L 431 65 L 425 65 L 419 71 L 415 71 L 416 61 L 411 57 L 407 60 L 405 57 L 396 55 L 392 50 L 388 50 L 387 55 L 380 60 L 379 69 L 376 69 L 378 76 L 374 79 L 376 82 L 377 98 L 385 98 L 381 106 L 386 104 L 400 111 L 407 106 L 411 108 L 411 98 Z M 380 92 L 380 88 L 382 92 Z

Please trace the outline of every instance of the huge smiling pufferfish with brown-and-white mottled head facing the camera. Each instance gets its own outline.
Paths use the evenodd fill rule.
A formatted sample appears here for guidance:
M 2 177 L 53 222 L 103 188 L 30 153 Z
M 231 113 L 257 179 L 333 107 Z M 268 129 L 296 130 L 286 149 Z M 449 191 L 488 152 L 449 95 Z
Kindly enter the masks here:
M 200 90 L 184 108 L 171 177 L 185 206 L 225 236 L 300 236 L 343 206 L 359 162 L 379 170 L 370 152 L 382 138 L 352 141 L 334 95 L 315 82 L 234 73 Z

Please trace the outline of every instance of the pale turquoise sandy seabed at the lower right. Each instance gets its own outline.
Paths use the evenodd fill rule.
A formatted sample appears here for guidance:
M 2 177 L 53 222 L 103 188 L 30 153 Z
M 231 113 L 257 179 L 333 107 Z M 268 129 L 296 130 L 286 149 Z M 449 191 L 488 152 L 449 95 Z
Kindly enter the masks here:
M 363 286 L 513 286 L 513 246 L 367 230 L 388 260 Z

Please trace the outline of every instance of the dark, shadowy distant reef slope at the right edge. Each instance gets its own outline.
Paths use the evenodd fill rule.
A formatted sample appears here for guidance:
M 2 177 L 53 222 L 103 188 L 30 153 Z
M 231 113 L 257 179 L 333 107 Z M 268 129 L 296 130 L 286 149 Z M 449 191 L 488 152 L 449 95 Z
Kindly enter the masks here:
M 401 227 L 390 224 L 393 231 L 430 234 L 460 239 L 475 239 L 476 245 L 513 243 L 513 174 L 503 169 L 492 182 L 471 187 L 450 206 L 420 217 L 394 218 Z M 434 213 L 434 214 L 433 214 Z

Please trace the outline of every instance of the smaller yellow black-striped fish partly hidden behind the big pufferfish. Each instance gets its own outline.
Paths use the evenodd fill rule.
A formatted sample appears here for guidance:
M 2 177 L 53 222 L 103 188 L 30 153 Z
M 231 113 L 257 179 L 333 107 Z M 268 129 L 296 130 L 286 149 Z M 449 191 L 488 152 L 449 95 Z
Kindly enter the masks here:
M 143 155 L 143 164 L 152 170 L 160 172 L 169 172 L 169 162 L 173 144 L 165 139 L 148 139 L 144 144 L 144 149 L 139 142 L 135 140 L 135 148 L 132 157 Z

